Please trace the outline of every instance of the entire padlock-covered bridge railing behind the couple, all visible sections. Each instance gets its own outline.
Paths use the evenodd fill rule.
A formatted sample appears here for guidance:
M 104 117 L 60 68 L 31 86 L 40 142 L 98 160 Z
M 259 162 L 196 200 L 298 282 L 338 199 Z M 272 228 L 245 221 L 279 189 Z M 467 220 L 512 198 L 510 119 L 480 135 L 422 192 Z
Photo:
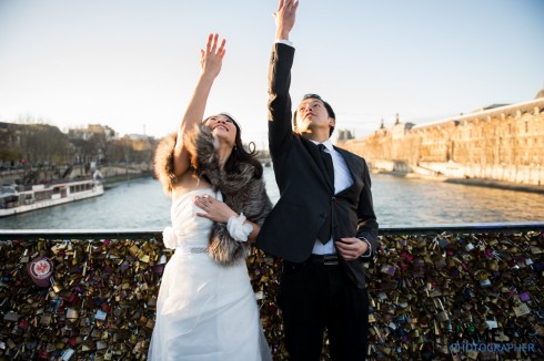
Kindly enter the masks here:
M 172 255 L 161 237 L 1 230 L 0 360 L 144 360 Z M 371 360 L 543 359 L 544 223 L 386 228 L 380 240 L 366 265 Z M 280 265 L 248 259 L 275 360 Z

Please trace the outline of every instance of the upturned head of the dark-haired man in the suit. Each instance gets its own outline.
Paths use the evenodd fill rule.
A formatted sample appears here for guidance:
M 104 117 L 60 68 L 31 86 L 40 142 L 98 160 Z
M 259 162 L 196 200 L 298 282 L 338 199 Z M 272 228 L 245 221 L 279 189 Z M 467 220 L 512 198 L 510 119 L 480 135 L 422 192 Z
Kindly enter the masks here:
M 334 118 L 329 116 L 325 104 L 319 99 L 306 99 L 299 104 L 296 110 L 298 133 L 314 133 L 318 128 L 329 128 L 334 126 Z

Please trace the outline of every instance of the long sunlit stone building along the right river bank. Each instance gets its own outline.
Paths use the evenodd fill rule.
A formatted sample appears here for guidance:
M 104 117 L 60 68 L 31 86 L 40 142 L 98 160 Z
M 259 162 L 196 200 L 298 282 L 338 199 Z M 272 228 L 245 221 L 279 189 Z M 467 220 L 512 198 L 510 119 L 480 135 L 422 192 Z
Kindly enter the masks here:
M 379 171 L 544 185 L 544 90 L 433 123 L 383 125 L 339 145 Z

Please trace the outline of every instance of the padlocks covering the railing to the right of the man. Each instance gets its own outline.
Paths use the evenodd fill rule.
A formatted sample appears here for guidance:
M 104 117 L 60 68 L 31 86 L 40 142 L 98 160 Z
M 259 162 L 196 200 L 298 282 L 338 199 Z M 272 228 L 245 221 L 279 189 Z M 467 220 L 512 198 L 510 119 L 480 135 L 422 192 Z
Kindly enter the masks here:
M 544 235 L 384 236 L 370 271 L 370 354 L 541 360 Z

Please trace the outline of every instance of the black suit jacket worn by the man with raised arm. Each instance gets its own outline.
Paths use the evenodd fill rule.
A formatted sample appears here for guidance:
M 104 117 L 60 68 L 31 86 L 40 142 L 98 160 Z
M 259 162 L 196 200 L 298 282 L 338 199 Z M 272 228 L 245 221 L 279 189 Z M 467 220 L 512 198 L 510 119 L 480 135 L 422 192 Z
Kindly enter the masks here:
M 377 223 L 365 161 L 335 147 L 350 169 L 353 185 L 334 194 L 321 171 L 318 146 L 293 132 L 289 94 L 293 56 L 294 48 L 274 44 L 269 69 L 269 147 L 281 197 L 265 219 L 256 246 L 285 260 L 302 262 L 310 257 L 318 231 L 331 215 L 334 240 L 364 237 L 376 250 Z M 362 260 L 341 258 L 341 262 L 363 288 Z

